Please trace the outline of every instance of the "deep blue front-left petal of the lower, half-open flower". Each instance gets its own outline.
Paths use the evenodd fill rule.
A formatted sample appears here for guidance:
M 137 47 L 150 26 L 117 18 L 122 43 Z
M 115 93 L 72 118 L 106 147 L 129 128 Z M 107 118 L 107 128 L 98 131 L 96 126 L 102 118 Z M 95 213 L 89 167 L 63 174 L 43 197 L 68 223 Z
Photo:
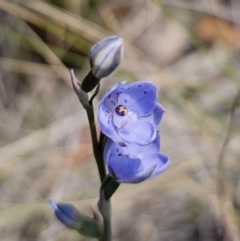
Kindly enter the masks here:
M 134 178 L 143 170 L 142 162 L 138 158 L 127 156 L 114 156 L 109 160 L 109 173 L 116 179 L 124 180 Z

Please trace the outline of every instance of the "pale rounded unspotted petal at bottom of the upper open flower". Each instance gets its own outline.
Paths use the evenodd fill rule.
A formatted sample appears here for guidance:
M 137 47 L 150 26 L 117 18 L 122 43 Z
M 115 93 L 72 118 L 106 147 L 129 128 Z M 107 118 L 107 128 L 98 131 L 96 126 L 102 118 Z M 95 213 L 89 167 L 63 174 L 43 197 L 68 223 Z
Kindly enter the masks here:
M 118 133 L 126 142 L 137 145 L 148 145 L 157 135 L 155 126 L 144 120 L 128 122 L 123 128 L 118 129 Z

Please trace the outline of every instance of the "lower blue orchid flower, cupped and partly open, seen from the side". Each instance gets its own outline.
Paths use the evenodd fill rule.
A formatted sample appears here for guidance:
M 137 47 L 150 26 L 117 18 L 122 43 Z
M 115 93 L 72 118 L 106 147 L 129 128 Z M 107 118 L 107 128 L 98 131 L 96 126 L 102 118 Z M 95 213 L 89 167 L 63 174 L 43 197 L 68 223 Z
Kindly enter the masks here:
M 169 165 L 169 157 L 159 153 L 160 134 L 149 145 L 120 146 L 108 139 L 104 161 L 109 174 L 121 183 L 139 183 L 162 173 Z

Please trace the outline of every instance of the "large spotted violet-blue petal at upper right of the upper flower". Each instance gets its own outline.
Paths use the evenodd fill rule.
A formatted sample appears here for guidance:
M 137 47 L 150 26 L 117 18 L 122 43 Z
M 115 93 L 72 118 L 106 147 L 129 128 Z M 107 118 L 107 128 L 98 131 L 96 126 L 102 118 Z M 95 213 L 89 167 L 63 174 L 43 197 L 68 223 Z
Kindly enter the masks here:
M 137 116 L 150 115 L 157 103 L 157 87 L 151 82 L 134 82 L 122 90 L 118 104 L 124 105 Z

